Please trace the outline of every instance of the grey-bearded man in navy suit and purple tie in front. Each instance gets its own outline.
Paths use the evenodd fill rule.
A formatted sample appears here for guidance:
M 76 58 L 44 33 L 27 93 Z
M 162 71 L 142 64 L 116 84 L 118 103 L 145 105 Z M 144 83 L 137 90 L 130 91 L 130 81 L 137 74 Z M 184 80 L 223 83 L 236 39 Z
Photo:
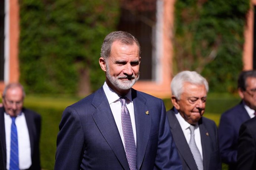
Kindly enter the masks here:
M 139 79 L 140 61 L 140 44 L 134 36 L 116 31 L 105 37 L 99 64 L 106 81 L 64 110 L 55 170 L 182 168 L 163 101 L 131 88 Z M 129 112 L 124 122 L 130 128 L 123 125 L 123 107 Z M 132 156 L 130 147 L 135 150 Z

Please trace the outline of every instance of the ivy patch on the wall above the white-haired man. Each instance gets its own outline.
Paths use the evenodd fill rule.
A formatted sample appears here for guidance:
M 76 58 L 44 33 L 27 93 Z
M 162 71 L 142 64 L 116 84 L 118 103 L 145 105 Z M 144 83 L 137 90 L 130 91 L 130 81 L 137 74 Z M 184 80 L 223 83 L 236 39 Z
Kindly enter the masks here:
M 236 91 L 249 7 L 250 0 L 176 1 L 174 72 L 197 71 L 211 91 Z

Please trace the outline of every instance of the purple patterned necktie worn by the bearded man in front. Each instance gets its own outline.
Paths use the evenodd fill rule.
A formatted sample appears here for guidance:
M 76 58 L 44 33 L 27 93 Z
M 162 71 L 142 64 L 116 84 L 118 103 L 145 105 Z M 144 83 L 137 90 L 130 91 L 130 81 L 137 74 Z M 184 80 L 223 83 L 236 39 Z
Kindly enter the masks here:
M 125 101 L 126 97 L 120 98 L 122 108 L 121 108 L 121 117 L 122 117 L 122 128 L 124 134 L 124 145 L 125 153 L 128 160 L 128 164 L 131 170 L 136 170 L 136 146 L 132 130 L 132 122 L 130 113 L 126 107 Z

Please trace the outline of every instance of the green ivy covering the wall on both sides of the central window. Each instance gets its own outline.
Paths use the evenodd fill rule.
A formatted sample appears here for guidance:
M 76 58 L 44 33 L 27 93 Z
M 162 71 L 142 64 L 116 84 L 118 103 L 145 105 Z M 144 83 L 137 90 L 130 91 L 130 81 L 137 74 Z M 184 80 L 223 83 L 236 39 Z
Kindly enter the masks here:
M 26 91 L 98 89 L 105 79 L 100 48 L 106 34 L 116 30 L 120 1 L 20 0 L 20 82 Z M 177 0 L 174 74 L 196 70 L 210 91 L 236 91 L 249 7 L 250 0 Z

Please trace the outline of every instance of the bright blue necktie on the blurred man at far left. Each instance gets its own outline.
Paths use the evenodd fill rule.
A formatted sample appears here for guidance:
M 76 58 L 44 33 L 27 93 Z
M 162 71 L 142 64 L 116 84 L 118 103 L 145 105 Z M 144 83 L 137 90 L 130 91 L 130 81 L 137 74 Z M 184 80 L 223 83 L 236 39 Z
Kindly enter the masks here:
M 17 127 L 15 125 L 16 117 L 12 118 L 11 125 L 11 152 L 10 152 L 10 170 L 19 170 L 19 147 Z

